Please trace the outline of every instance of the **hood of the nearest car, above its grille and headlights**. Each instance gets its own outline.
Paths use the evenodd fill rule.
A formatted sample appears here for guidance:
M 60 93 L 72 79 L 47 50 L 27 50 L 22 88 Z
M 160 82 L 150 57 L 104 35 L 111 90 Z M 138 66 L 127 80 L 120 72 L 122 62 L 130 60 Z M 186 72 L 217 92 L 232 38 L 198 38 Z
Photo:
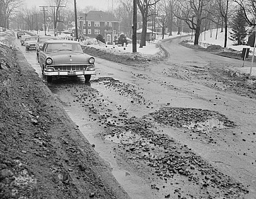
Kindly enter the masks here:
M 88 64 L 90 57 L 92 57 L 78 52 L 53 52 L 50 54 L 49 57 L 52 58 L 53 64 Z

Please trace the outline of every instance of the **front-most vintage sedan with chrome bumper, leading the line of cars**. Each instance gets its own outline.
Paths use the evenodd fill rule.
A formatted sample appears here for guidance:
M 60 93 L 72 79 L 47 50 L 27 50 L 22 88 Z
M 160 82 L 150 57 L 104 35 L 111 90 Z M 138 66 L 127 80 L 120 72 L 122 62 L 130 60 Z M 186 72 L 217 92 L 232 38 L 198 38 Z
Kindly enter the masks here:
M 94 57 L 82 51 L 79 42 L 72 40 L 48 40 L 39 51 L 39 64 L 47 82 L 52 77 L 81 76 L 85 82 L 96 74 Z

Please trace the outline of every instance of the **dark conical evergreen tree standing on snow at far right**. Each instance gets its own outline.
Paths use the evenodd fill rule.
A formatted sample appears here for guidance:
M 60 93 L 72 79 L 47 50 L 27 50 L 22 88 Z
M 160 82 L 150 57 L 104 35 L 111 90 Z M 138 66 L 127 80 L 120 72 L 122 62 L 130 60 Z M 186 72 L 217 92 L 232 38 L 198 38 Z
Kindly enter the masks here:
M 245 20 L 245 13 L 243 13 L 242 9 L 236 11 L 236 16 L 232 20 L 231 23 L 230 40 L 235 42 L 234 45 L 243 45 L 245 44 L 245 38 L 247 36 L 247 22 Z

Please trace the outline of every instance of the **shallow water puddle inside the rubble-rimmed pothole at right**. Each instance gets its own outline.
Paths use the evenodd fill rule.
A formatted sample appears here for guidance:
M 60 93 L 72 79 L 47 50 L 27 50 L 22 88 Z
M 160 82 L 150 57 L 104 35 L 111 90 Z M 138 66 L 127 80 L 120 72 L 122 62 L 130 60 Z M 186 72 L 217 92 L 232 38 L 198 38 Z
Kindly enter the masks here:
M 183 127 L 188 128 L 189 130 L 198 130 L 198 131 L 210 131 L 214 128 L 216 129 L 225 128 L 224 122 L 216 118 L 207 119 L 207 121 L 205 122 L 192 122 L 189 125 L 183 125 Z

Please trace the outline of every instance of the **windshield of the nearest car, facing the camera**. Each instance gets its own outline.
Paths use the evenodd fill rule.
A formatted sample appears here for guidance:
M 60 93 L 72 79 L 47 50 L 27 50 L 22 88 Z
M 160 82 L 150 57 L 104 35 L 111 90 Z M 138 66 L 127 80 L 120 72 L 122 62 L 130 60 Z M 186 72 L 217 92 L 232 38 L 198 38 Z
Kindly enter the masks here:
M 80 44 L 75 43 L 58 43 L 58 44 L 48 44 L 46 52 L 55 52 L 55 51 L 75 51 L 82 52 Z

